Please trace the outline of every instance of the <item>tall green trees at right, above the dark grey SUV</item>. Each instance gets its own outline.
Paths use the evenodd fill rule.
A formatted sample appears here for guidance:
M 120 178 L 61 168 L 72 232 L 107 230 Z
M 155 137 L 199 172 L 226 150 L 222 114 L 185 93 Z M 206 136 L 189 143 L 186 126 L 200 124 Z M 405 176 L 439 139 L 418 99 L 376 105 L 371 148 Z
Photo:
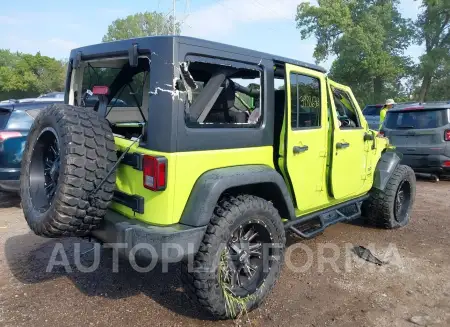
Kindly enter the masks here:
M 302 39 L 315 36 L 318 63 L 335 56 L 330 77 L 362 103 L 450 100 L 450 1 L 422 0 L 415 20 L 398 0 L 319 0 L 297 8 Z M 405 54 L 424 46 L 419 63 Z

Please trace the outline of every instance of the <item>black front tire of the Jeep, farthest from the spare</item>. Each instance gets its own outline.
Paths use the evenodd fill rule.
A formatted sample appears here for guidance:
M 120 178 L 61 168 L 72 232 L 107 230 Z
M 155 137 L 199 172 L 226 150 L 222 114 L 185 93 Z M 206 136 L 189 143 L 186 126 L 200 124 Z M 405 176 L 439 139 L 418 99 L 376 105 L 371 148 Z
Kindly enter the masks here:
M 407 199 L 404 203 L 405 208 L 401 213 L 396 213 L 395 204 L 400 188 L 407 187 Z M 370 225 L 395 229 L 408 224 L 411 209 L 416 196 L 416 176 L 414 171 L 405 165 L 398 165 L 386 188 L 381 191 L 373 189 L 370 198 L 364 201 L 362 205 L 362 215 Z

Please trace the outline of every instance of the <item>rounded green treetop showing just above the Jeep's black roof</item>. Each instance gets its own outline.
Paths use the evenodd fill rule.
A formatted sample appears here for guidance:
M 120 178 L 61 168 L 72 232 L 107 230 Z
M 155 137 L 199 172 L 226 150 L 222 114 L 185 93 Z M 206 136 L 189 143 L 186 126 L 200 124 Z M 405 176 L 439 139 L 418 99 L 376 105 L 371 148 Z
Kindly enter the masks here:
M 130 39 L 151 35 L 180 34 L 180 24 L 175 24 L 173 33 L 173 16 L 158 12 L 144 12 L 118 18 L 108 26 L 103 42 Z

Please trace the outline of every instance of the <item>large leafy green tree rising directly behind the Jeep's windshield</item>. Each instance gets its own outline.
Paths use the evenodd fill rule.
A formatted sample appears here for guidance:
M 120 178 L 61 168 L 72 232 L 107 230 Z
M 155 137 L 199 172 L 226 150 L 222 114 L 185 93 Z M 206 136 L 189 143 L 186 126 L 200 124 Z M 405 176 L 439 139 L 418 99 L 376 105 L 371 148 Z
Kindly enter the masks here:
M 337 57 L 330 72 L 333 78 L 351 86 L 364 101 L 380 102 L 386 88 L 405 76 L 411 65 L 403 52 L 413 41 L 413 23 L 397 6 L 397 0 L 302 3 L 297 28 L 302 39 L 316 37 L 318 62 Z

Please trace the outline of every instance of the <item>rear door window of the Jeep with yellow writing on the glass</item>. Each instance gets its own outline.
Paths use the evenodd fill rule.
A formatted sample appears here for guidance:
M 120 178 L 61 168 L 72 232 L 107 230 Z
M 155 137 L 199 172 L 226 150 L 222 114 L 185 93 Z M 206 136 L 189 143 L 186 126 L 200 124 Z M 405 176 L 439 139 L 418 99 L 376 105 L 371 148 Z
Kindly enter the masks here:
M 290 80 L 292 129 L 320 127 L 320 80 L 296 73 Z

